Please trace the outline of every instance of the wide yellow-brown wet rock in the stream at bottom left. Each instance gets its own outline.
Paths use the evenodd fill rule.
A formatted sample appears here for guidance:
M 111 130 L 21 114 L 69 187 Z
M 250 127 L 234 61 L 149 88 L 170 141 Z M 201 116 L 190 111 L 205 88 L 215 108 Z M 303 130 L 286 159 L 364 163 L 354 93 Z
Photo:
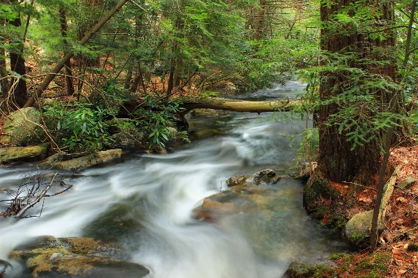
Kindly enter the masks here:
M 92 238 L 42 236 L 20 245 L 11 259 L 24 261 L 32 277 L 144 277 L 143 265 L 106 256 L 111 245 Z

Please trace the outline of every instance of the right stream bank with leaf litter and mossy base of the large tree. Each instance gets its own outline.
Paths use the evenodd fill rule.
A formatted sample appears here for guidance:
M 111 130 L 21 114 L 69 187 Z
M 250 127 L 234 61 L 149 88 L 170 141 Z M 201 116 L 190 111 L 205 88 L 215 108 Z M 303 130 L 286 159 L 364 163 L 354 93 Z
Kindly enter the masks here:
M 369 254 L 366 250 L 369 235 L 359 237 L 355 242 L 357 253 L 334 254 L 330 259 L 336 263 L 336 268 L 312 268 L 311 274 L 315 277 L 418 276 L 418 145 L 392 149 L 387 179 L 398 165 L 401 170 L 386 209 L 385 229 L 380 234 L 376 252 Z M 374 179 L 377 181 L 377 177 Z M 308 207 L 320 224 L 340 231 L 353 216 L 373 209 L 377 182 L 354 194 L 348 191 L 347 184 L 330 183 L 330 186 L 332 195 L 321 195 L 315 207 L 313 204 Z

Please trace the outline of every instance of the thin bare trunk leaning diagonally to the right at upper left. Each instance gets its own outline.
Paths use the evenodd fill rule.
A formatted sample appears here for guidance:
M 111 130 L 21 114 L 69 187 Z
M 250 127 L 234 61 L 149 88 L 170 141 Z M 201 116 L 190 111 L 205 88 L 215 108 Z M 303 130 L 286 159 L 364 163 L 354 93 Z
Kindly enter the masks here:
M 127 3 L 127 1 L 129 0 L 121 0 L 119 1 L 116 6 L 114 8 L 112 8 L 109 13 L 107 13 L 107 15 L 104 15 L 104 17 L 100 20 L 100 22 L 98 22 L 98 24 L 96 24 L 95 26 L 93 26 L 93 28 L 90 29 L 90 31 L 88 31 L 86 33 L 86 35 L 84 35 L 84 38 L 82 38 L 82 40 L 80 40 L 79 45 L 84 45 L 86 44 L 86 42 L 88 42 L 88 40 L 91 39 L 91 37 L 93 37 L 93 35 L 98 32 L 100 30 L 100 28 L 102 28 L 102 26 L 104 24 L 106 24 L 106 22 L 109 21 L 109 19 L 111 19 L 111 17 L 113 17 L 113 15 L 115 13 L 118 12 L 118 10 L 120 10 L 123 5 L 125 5 L 125 3 Z M 49 75 L 38 87 L 38 89 L 36 89 L 36 92 L 32 95 L 32 97 L 26 101 L 26 104 L 24 104 L 24 108 L 26 107 L 31 107 L 33 106 L 33 104 L 35 104 L 35 101 L 40 97 L 40 95 L 42 95 L 43 90 L 45 90 L 49 83 L 51 83 L 52 80 L 54 80 L 55 78 L 55 74 L 58 74 L 62 68 L 65 66 L 65 63 L 67 63 L 68 60 L 70 60 L 70 58 L 74 56 L 74 51 L 68 51 L 68 54 L 66 54 L 61 61 L 59 61 L 59 63 L 54 67 L 54 70 L 52 70 L 52 74 Z

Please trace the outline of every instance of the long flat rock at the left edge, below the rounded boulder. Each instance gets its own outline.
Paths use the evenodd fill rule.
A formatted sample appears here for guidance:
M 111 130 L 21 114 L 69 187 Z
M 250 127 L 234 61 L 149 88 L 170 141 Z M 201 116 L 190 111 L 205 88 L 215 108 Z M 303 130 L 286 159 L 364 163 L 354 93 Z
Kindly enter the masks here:
M 47 156 L 48 148 L 49 143 L 29 147 L 3 147 L 0 148 L 0 164 L 41 160 Z

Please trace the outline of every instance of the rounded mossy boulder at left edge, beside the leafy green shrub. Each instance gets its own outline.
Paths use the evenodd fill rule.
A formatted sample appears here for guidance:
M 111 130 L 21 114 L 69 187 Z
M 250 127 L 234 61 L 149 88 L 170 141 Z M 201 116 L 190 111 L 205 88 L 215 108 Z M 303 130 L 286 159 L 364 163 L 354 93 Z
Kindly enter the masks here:
M 38 142 L 36 130 L 40 113 L 36 108 L 22 108 L 8 115 L 0 140 L 5 145 L 26 145 Z

